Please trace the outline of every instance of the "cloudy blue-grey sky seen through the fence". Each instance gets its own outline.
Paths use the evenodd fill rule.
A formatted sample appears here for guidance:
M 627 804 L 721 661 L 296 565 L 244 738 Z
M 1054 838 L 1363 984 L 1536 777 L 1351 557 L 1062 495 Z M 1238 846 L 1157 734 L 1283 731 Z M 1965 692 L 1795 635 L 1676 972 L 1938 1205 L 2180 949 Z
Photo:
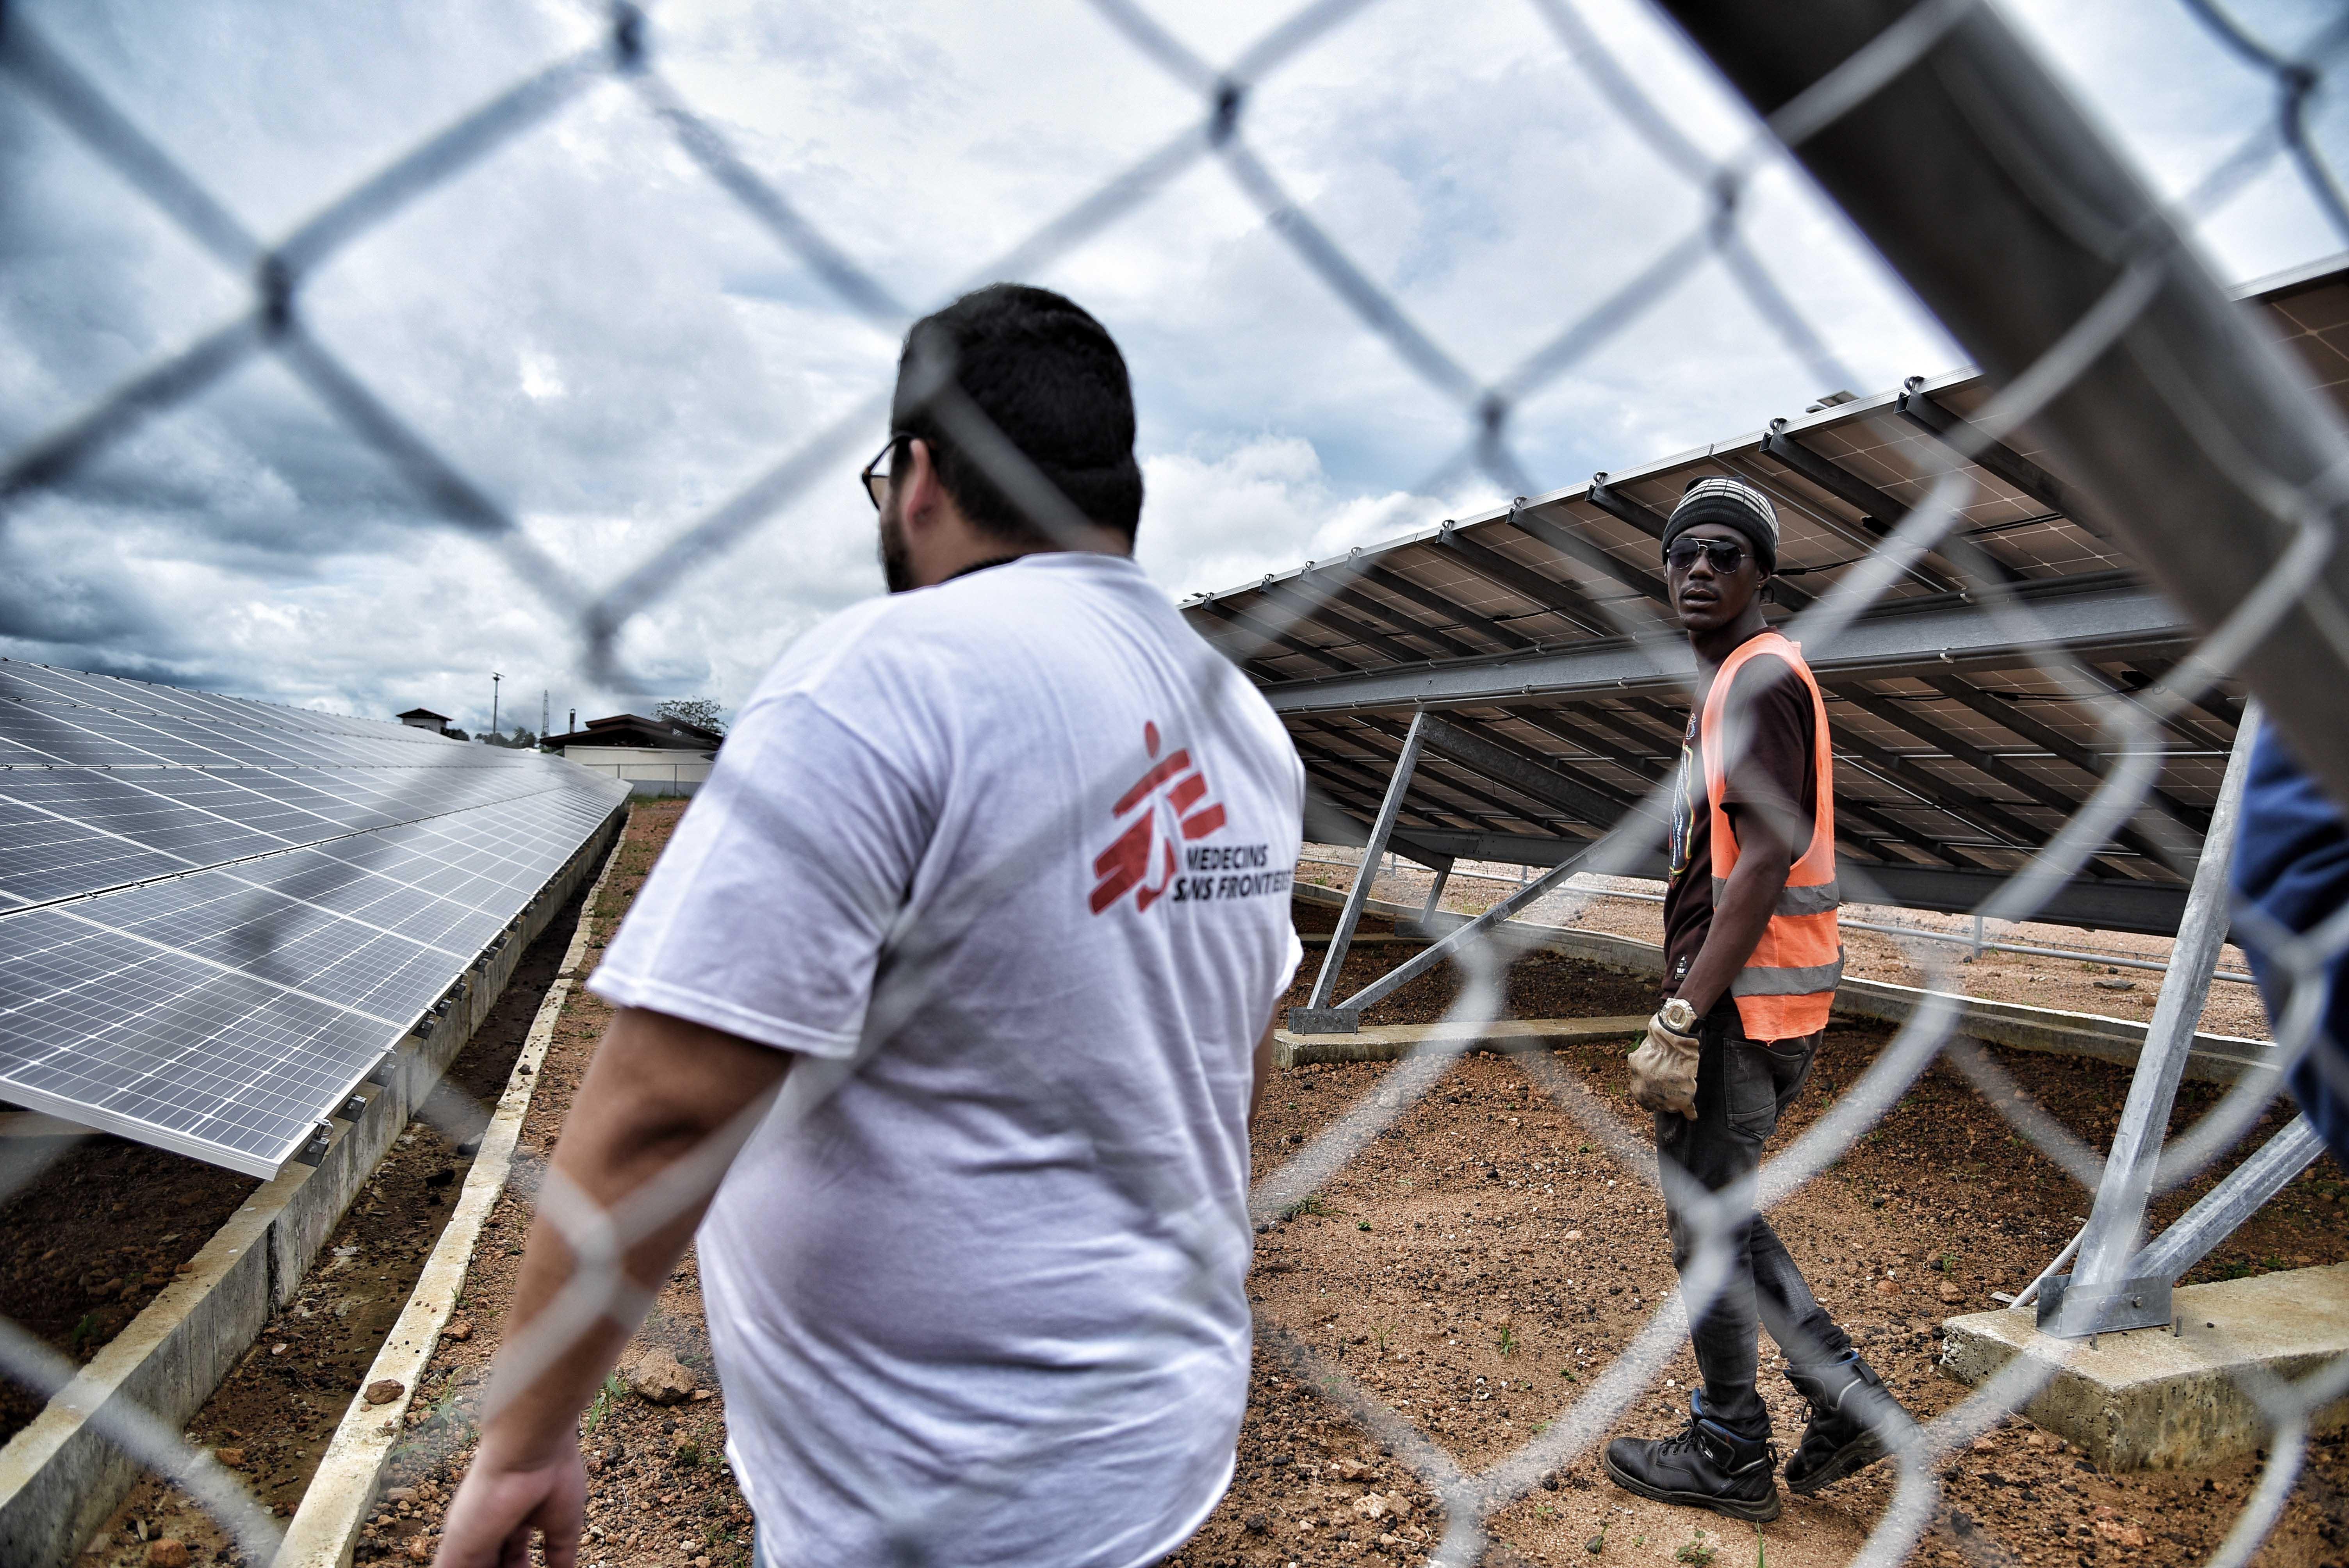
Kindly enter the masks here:
M 2173 0 L 2001 0 L 2166 192 L 2269 108 L 2267 77 Z M 2321 0 L 2234 0 L 2293 47 Z M 1153 0 L 1229 61 L 1271 7 Z M 1637 0 L 1576 12 L 1682 134 L 1752 122 Z M 263 242 L 428 134 L 599 35 L 590 7 L 12 5 Z M 1198 94 L 1081 0 L 653 7 L 660 77 L 907 312 L 1198 122 Z M 2318 101 L 2349 164 L 2349 103 Z M 1506 373 L 1698 223 L 1701 195 L 1590 89 L 1522 0 L 1381 0 L 1280 66 L 1243 134 L 1287 192 L 1478 378 Z M 1858 392 L 1957 350 L 1799 176 L 1745 232 Z M 2217 270 L 2340 249 L 2281 164 L 2201 214 Z M 1083 244 L 1022 268 L 1118 336 L 1149 502 L 1142 556 L 1177 594 L 1231 587 L 1501 498 L 1447 460 L 1468 420 L 1341 305 L 1203 160 Z M 0 453 L 249 310 L 249 282 L 0 73 Z M 653 697 L 740 702 L 810 624 L 881 589 L 839 455 L 630 620 L 641 690 L 594 685 L 566 592 L 620 580 L 888 387 L 904 317 L 857 310 L 608 75 L 388 214 L 301 291 L 317 340 L 519 521 L 451 528 L 294 373 L 256 357 L 54 491 L 0 509 L 0 653 L 388 716 L 411 704 L 557 728 Z M 1823 392 L 1717 263 L 1522 404 L 1539 488 L 1755 430 Z M 869 425 L 869 430 L 864 427 Z M 571 584 L 571 587 L 566 587 Z

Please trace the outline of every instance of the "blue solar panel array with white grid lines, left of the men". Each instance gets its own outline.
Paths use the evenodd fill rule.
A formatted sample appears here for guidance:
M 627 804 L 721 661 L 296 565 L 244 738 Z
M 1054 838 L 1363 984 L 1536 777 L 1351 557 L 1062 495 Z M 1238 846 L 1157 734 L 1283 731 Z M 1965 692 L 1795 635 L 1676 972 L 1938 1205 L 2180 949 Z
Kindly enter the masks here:
M 0 1099 L 272 1176 L 625 796 L 0 660 Z

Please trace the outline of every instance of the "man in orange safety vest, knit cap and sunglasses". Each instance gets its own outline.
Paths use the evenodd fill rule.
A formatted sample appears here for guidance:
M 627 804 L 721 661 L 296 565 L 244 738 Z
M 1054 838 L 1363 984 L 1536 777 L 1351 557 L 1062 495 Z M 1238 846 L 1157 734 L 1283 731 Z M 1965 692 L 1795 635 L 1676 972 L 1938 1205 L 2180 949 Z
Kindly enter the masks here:
M 1703 1242 L 1694 1188 L 1722 1192 L 1762 1164 L 1762 1141 L 1811 1075 L 1844 948 L 1828 707 L 1802 648 L 1762 620 L 1778 512 L 1750 484 L 1698 479 L 1663 528 L 1663 561 L 1696 650 L 1696 702 L 1672 793 L 1665 1005 L 1630 1056 L 1630 1087 L 1656 1113 L 1672 1263 L 1687 1272 Z M 1755 1392 L 1757 1319 L 1811 1404 L 1785 1465 L 1797 1495 L 1884 1458 L 1900 1413 L 1769 1221 L 1750 1199 L 1729 1218 L 1727 1279 L 1689 1329 L 1703 1373 L 1689 1425 L 1616 1439 L 1607 1474 L 1642 1498 L 1759 1521 L 1778 1516 L 1778 1451 Z

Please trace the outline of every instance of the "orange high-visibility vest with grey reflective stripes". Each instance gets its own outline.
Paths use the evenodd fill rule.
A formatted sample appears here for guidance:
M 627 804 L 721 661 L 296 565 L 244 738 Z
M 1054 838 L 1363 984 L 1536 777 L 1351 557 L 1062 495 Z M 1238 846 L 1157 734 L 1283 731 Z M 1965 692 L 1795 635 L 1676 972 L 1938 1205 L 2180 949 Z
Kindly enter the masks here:
M 1719 908 L 1722 890 L 1738 864 L 1738 840 L 1729 831 L 1729 812 L 1722 810 L 1722 791 L 1729 786 L 1722 758 L 1722 716 L 1738 671 L 1748 660 L 1762 655 L 1785 660 L 1788 669 L 1811 688 L 1811 758 L 1818 770 L 1818 810 L 1811 819 L 1811 843 L 1788 871 L 1778 908 L 1762 930 L 1752 958 L 1729 981 L 1729 995 L 1738 1005 L 1738 1021 L 1745 1026 L 1748 1040 L 1795 1040 L 1828 1026 L 1835 986 L 1844 979 L 1844 944 L 1835 930 L 1835 908 L 1842 904 L 1835 887 L 1835 749 L 1828 744 L 1828 702 L 1818 695 L 1811 667 L 1802 662 L 1802 646 L 1790 643 L 1778 631 L 1762 631 L 1722 660 L 1722 671 L 1712 676 L 1712 690 L 1705 692 L 1696 744 L 1705 758 L 1705 800 L 1712 807 L 1712 906 Z

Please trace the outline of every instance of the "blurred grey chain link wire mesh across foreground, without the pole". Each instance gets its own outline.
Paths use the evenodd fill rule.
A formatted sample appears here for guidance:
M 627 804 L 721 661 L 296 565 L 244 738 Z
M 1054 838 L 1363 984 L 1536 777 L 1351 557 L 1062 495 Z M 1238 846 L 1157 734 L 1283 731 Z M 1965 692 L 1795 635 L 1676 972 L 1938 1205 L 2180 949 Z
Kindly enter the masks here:
M 2051 892 L 2149 803 L 2159 772 L 2152 742 L 2159 739 L 2163 721 L 2208 690 L 2217 676 L 2236 674 L 2246 655 L 2257 650 L 2286 620 L 2304 617 L 2340 660 L 2349 660 L 2349 634 L 2344 634 L 2349 622 L 2337 615 L 2337 606 L 2328 601 L 2323 587 L 2326 573 L 2337 563 L 2335 530 L 2344 493 L 2349 493 L 2349 446 L 2342 444 L 2340 425 L 2330 415 L 2309 423 L 2309 430 L 2316 432 L 2314 439 L 2323 444 L 2323 460 L 2314 469 L 2279 469 L 2241 444 L 2227 446 L 2220 437 L 2208 441 L 2208 458 L 2227 469 L 2243 493 L 2260 498 L 2267 521 L 2276 526 L 2283 542 L 2269 554 L 2267 566 L 2248 589 L 2232 594 L 2215 615 L 2206 615 L 2206 636 L 2196 653 L 2145 692 L 2114 692 L 2105 681 L 2093 678 L 2093 671 L 2062 653 L 2055 636 L 2060 634 L 2060 613 L 2015 596 L 2004 575 L 1952 535 L 1971 495 L 1964 458 L 2044 415 L 2053 404 L 2084 397 L 2091 371 L 2112 354 L 2126 350 L 2140 361 L 2154 357 L 2161 345 L 2152 343 L 2149 312 L 2156 310 L 2156 300 L 2180 270 L 2194 270 L 2199 277 L 2199 263 L 2192 258 L 2185 235 L 2208 211 L 2283 164 L 2295 171 L 2309 200 L 2349 244 L 2349 202 L 2344 202 L 2340 171 L 2328 164 L 2309 131 L 2311 108 L 2335 87 L 2340 59 L 2349 49 L 2349 16 L 2333 19 L 2304 42 L 2279 45 L 2248 28 L 2217 0 L 2175 2 L 2208 31 L 2215 47 L 2267 73 L 2274 85 L 2271 117 L 2248 127 L 2234 150 L 2201 176 L 2175 209 L 2154 214 L 2149 223 L 2140 223 L 2126 235 L 2109 232 L 2109 223 L 2088 214 L 2065 190 L 2065 181 L 2051 174 L 2077 148 L 2034 146 L 2030 141 L 2034 127 L 2020 127 L 2008 136 L 2006 153 L 2018 167 L 2018 181 L 2039 195 L 2046 223 L 2058 230 L 2091 232 L 2102 244 L 2114 272 L 2109 286 L 2102 286 L 2088 307 L 2048 333 L 2039 352 L 2004 373 L 1992 366 L 1999 392 L 1973 420 L 1966 437 L 1971 446 L 1961 441 L 1952 448 L 1943 458 L 1945 467 L 1929 498 L 1882 540 L 1877 552 L 1851 563 L 1825 594 L 1785 627 L 1806 646 L 1832 643 L 1926 552 L 1943 552 L 1959 566 L 1966 592 L 1990 608 L 2013 634 L 2015 646 L 2039 650 L 2032 662 L 2055 683 L 2055 690 L 2067 692 L 2098 716 L 2116 763 L 2100 786 L 2079 803 L 2062 831 L 1983 904 L 1980 913 L 1992 920 L 2025 920 L 2037 913 Z M 1680 181 L 1703 195 L 1703 216 L 1661 246 L 1616 291 L 1595 300 L 1569 300 L 1560 312 L 1560 324 L 1548 336 L 1532 340 L 1522 357 L 1496 376 L 1478 373 L 1419 326 L 1405 303 L 1374 282 L 1369 270 L 1325 225 L 1315 223 L 1247 136 L 1250 103 L 1261 82 L 1283 63 L 1320 45 L 1334 28 L 1369 9 L 1372 0 L 1304 5 L 1224 66 L 1200 59 L 1135 0 L 1092 0 L 1095 12 L 1142 59 L 1196 96 L 1198 115 L 1149 155 L 1052 216 L 989 265 L 977 268 L 968 284 L 1034 275 L 1085 246 L 1196 164 L 1221 164 L 1266 225 L 1294 251 L 1299 265 L 1320 279 L 1360 329 L 1381 340 L 1431 397 L 1459 411 L 1463 423 L 1459 448 L 1433 474 L 1412 486 L 1412 493 L 1433 493 L 1470 472 L 1510 495 L 1522 498 L 1539 491 L 1510 446 L 1510 420 L 1517 408 L 1539 390 L 1586 364 L 1593 352 L 1633 322 L 1656 310 L 1675 286 L 1701 268 L 1717 265 L 1820 385 L 1856 385 L 1858 378 L 1837 359 L 1828 333 L 1806 319 L 1755 246 L 1748 244 L 1745 218 L 1752 181 L 1769 169 L 1785 167 L 1790 155 L 1809 157 L 1816 138 L 1856 110 L 1879 103 L 1896 82 L 1917 80 L 1919 70 L 1943 70 L 1947 80 L 1957 80 L 1959 68 L 1950 66 L 1950 59 L 1959 54 L 1957 35 L 1971 31 L 1980 40 L 2004 23 L 1978 0 L 1882 5 L 1875 12 L 1877 26 L 1865 42 L 1858 42 L 1839 63 L 1818 73 L 1799 92 L 1785 94 L 1755 122 L 1752 134 L 1734 155 L 1710 157 L 1694 136 L 1675 124 L 1670 108 L 1658 103 L 1635 73 L 1604 47 L 1574 0 L 1529 0 L 1529 5 L 1564 45 L 1579 73 L 1579 80 L 1562 82 L 1562 89 L 1604 103 Z M 1823 9 L 1849 12 L 1849 7 Z M 864 404 L 803 434 L 752 484 L 679 528 L 660 549 L 615 580 L 597 584 L 545 547 L 533 545 L 514 514 L 425 434 L 402 420 L 371 387 L 364 366 L 345 361 L 322 343 L 303 315 L 303 289 L 319 268 L 350 246 L 364 244 L 373 230 L 425 192 L 540 131 L 557 110 L 590 87 L 615 80 L 637 94 L 677 138 L 684 155 L 785 254 L 820 277 L 846 310 L 890 333 L 902 331 L 916 317 L 916 310 L 890 293 L 846 246 L 824 235 L 792 202 L 789 190 L 752 167 L 731 146 L 723 129 L 698 113 L 686 94 L 662 75 L 655 49 L 658 31 L 644 9 L 622 2 L 601 12 L 601 38 L 592 47 L 547 63 L 453 124 L 423 136 L 409 153 L 329 202 L 289 235 L 265 242 L 249 232 L 174 157 L 171 148 L 157 146 L 136 129 L 45 40 L 19 7 L 0 5 L 0 89 L 40 106 L 54 122 L 63 124 L 87 150 L 129 181 L 157 214 L 242 279 L 249 291 L 235 315 L 197 333 L 179 352 L 146 366 L 47 434 L 7 453 L 0 462 L 0 528 L 9 526 L 9 512 L 26 498 L 68 484 L 103 453 L 122 446 L 146 420 L 202 397 L 240 366 L 272 357 L 341 420 L 355 441 L 383 455 L 413 486 L 418 502 L 430 514 L 449 528 L 493 545 L 521 577 L 538 584 L 545 596 L 543 613 L 552 624 L 578 636 L 583 669 L 592 678 L 606 685 L 627 685 L 618 636 L 630 617 L 677 592 L 679 580 L 693 566 L 756 533 L 810 484 L 836 477 L 841 465 L 853 460 L 879 430 L 888 411 L 888 387 L 876 387 Z M 1731 77 L 1741 75 L 1741 63 L 1755 73 L 1766 66 L 1766 61 L 1757 66 L 1752 59 L 1724 59 L 1717 47 L 1715 63 L 1724 66 Z M 1973 214 L 1947 214 L 1952 244 L 1954 230 L 1968 221 Z M 1896 256 L 1898 263 L 1903 263 L 1900 256 Z M 1919 268 L 1903 265 L 1903 270 L 1912 282 L 1919 282 Z M 2001 300 L 1990 296 L 1980 298 L 1978 305 L 1997 310 Z M 909 364 L 914 385 L 928 392 L 942 427 L 987 467 L 1005 495 L 1048 535 L 1064 535 L 1071 523 L 1083 521 L 1050 479 L 956 390 L 951 361 L 921 343 L 914 347 Z M 2161 394 L 2182 411 L 2180 418 L 2201 411 L 2194 387 L 2201 369 L 2192 361 L 2168 361 L 2154 371 Z M 2276 376 L 2274 397 L 2309 401 L 2309 394 L 2290 376 Z M 2201 519 L 2156 514 L 2140 519 L 2138 526 L 2140 533 L 2133 533 L 2133 540 L 2142 547 L 2147 540 L 2168 538 L 2161 530 L 2175 535 L 2180 528 L 2201 526 Z M 1278 634 L 1308 610 L 1311 603 L 1264 606 L 1254 615 Z M 2196 606 L 2196 610 L 2208 610 L 2208 606 Z M 1611 629 L 1633 638 L 1663 636 L 1651 622 L 1633 622 L 1630 617 Z M 1210 702 L 1210 692 L 1217 690 L 1221 678 L 1217 664 L 1210 660 L 1198 669 L 1196 702 L 1200 704 Z M 2309 704 L 2314 699 L 2307 690 L 2276 690 L 2274 683 L 2257 678 L 2253 685 L 2276 721 L 2295 735 L 2311 721 Z M 1139 751 L 1132 761 L 1139 772 L 1144 761 Z M 2337 770 L 2328 768 L 2326 756 L 2318 756 L 2316 765 L 2335 789 L 2349 793 L 2342 789 L 2349 777 L 2335 777 Z M 1123 782 L 1125 775 L 1102 779 L 1111 793 Z M 1611 833 L 1579 854 L 1574 869 L 1600 876 L 1628 871 L 1640 852 L 1656 840 L 1668 791 L 1670 784 L 1656 786 Z M 914 1014 L 951 1014 L 956 1002 L 940 981 L 942 955 L 951 953 L 961 932 L 987 920 L 989 911 L 1017 883 L 1027 880 L 1031 852 L 1083 836 L 1088 824 L 1078 819 L 1081 810 L 1081 803 L 1071 803 L 1066 812 L 1048 822 L 1034 845 L 1019 845 L 1017 852 L 1008 854 L 996 878 L 977 878 L 975 885 L 958 890 L 954 906 L 918 934 L 923 951 L 902 953 L 874 998 L 864 1052 L 886 1049 L 893 1030 Z M 1557 885 L 1564 885 L 1562 876 L 1553 876 Z M 1846 866 L 1844 876 L 1851 887 L 1846 897 L 1853 901 L 1893 901 L 1867 885 L 1858 866 Z M 2286 1007 L 2274 1033 L 2276 1061 L 2288 1068 L 2318 1038 L 2326 979 L 2349 951 L 2349 911 L 2307 934 L 2279 930 L 2260 920 L 2257 911 L 2239 911 L 2236 930 L 2241 941 L 2260 951 L 2286 976 Z M 1466 941 L 1454 953 L 1466 984 L 1445 1021 L 1485 1026 L 1501 1016 L 1501 979 L 1517 951 L 1520 941 L 1506 922 Z M 1677 1293 L 1656 1310 L 1633 1345 L 1576 1399 L 1567 1401 L 1539 1437 L 1501 1462 L 1466 1469 L 1416 1430 L 1409 1415 L 1386 1404 L 1299 1336 L 1276 1324 L 1259 1324 L 1259 1340 L 1301 1385 L 1315 1390 L 1372 1439 L 1388 1446 L 1435 1491 L 1445 1512 L 1445 1530 L 1431 1561 L 1461 1566 L 1478 1561 L 1489 1542 L 1489 1521 L 1499 1509 L 1522 1498 L 1543 1474 L 1602 1441 L 1633 1404 L 1658 1385 L 1665 1361 L 1687 1340 L 1687 1324 L 1691 1317 L 1701 1317 L 1719 1293 L 1729 1275 L 1731 1249 L 1743 1246 L 1748 1216 L 1785 1202 L 1837 1162 L 1936 1061 L 1947 1059 L 2008 1117 L 2020 1138 L 2053 1160 L 2084 1190 L 2095 1190 L 2102 1176 L 2102 1155 L 2081 1145 L 2030 1103 L 2018 1103 L 2015 1096 L 2001 1091 L 2006 1080 L 1997 1063 L 1954 1033 L 1959 1014 L 1957 1002 L 1947 995 L 1957 991 L 1950 984 L 1954 960 L 1929 955 L 1921 962 L 1929 969 L 1926 1002 L 1877 1054 L 1860 1080 L 1790 1148 L 1769 1160 L 1755 1178 L 1722 1192 L 1705 1192 L 1672 1162 L 1658 1162 L 1644 1131 L 1626 1127 L 1593 1096 L 1576 1094 L 1579 1084 L 1546 1052 L 1515 1052 L 1513 1061 L 1557 1110 L 1626 1171 L 1670 1199 L 1672 1209 L 1687 1218 L 1694 1253 L 1682 1270 Z M 1125 1148 L 1118 1129 L 1109 1122 L 1088 1124 L 1088 1131 L 1097 1143 L 1102 1169 L 1120 1183 L 1137 1216 L 1179 1239 L 1193 1261 L 1196 1289 L 1205 1291 L 1229 1270 L 1245 1265 L 1252 1223 L 1261 1225 L 1311 1197 L 1405 1108 L 1423 1099 L 1459 1059 L 1463 1033 L 1438 1030 L 1435 1040 L 1395 1063 L 1372 1096 L 1348 1108 L 1285 1164 L 1264 1171 L 1250 1199 L 1250 1214 L 1214 1211 L 1200 1204 L 1198 1195 L 1167 1190 L 1158 1171 L 1137 1157 L 1137 1150 Z M 801 1063 L 794 1068 L 780 1110 L 773 1103 L 742 1110 L 721 1136 L 709 1138 L 613 1209 L 594 1204 L 561 1171 L 550 1169 L 538 1192 L 538 1223 L 545 1232 L 561 1237 L 576 1258 L 576 1272 L 559 1298 L 503 1347 L 496 1380 L 484 1401 L 484 1420 L 493 1418 L 514 1397 L 514 1390 L 526 1387 L 552 1366 L 578 1336 L 611 1326 L 632 1329 L 651 1303 L 651 1289 L 625 1268 L 630 1249 L 707 1202 L 731 1157 L 763 1117 L 803 1115 L 827 1094 L 829 1084 L 841 1082 L 853 1070 L 855 1061 Z M 1038 1063 L 1034 1082 L 1022 1084 L 1022 1089 L 1066 1103 L 1071 1115 L 1083 1117 L 1088 1099 L 1071 1073 L 1073 1068 L 1066 1063 Z M 2192 1131 L 2163 1153 L 2154 1178 L 2156 1190 L 2189 1181 L 2239 1143 L 2243 1131 L 2269 1108 L 2276 1087 L 2279 1075 L 2239 1080 Z M 1778 1329 L 1778 1324 L 1771 1326 Z M 1130 1350 L 1135 1357 L 1151 1354 L 1149 1324 L 1135 1326 Z M 1799 1345 L 1788 1345 L 1788 1359 L 1795 1359 L 1797 1350 Z M 1898 1483 L 1891 1505 L 1875 1521 L 1853 1561 L 1893 1563 L 1907 1556 L 1936 1516 L 1938 1467 L 1976 1434 L 2018 1411 L 2058 1373 L 2062 1354 L 2013 1359 L 1971 1397 L 1933 1420 L 1893 1418 L 1884 1437 L 1893 1448 Z M 61 1357 L 14 1324 L 0 1324 L 0 1366 L 42 1394 L 59 1390 L 73 1373 Z M 2239 1383 L 2271 1432 L 2260 1486 L 2246 1498 L 2229 1535 L 2210 1559 L 2225 1566 L 2248 1561 L 2281 1516 L 2307 1460 L 2314 1413 L 2326 1401 L 2349 1392 L 2349 1357 L 2297 1380 L 2241 1376 Z M 1073 1406 L 1059 1420 L 1038 1422 L 994 1467 L 965 1476 L 944 1498 L 893 1493 L 890 1481 L 871 1474 L 860 1455 L 841 1453 L 836 1458 L 843 1474 L 871 1474 L 869 1502 L 876 1514 L 893 1521 L 904 1561 L 951 1561 L 958 1521 L 987 1507 L 1001 1479 L 1041 1462 L 1055 1444 L 1066 1441 L 1092 1415 L 1095 1411 Z M 103 1420 L 108 1434 L 127 1453 L 188 1488 L 204 1509 L 214 1512 L 249 1561 L 258 1563 L 272 1556 L 275 1523 L 242 1493 L 240 1481 L 221 1472 L 209 1455 L 190 1448 L 155 1418 L 108 1411 Z M 1959 1545 L 1976 1554 L 1990 1552 L 1980 1545 Z

